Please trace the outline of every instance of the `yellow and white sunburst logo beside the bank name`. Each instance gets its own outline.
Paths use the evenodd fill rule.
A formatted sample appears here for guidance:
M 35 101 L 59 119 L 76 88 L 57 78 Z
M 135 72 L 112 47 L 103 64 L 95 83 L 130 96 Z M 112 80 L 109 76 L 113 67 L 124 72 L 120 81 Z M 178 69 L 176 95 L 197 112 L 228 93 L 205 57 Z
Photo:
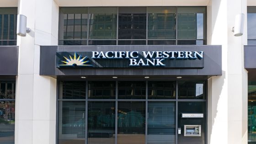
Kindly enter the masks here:
M 86 60 L 88 59 L 87 56 L 85 56 L 84 58 L 82 58 L 81 55 L 79 55 L 77 57 L 77 54 L 74 53 L 74 57 L 72 58 L 70 55 L 69 55 L 69 58 L 66 58 L 65 56 L 63 56 L 66 61 L 62 61 L 64 64 L 59 64 L 59 66 L 92 66 L 91 64 L 88 64 L 90 61 L 89 60 Z

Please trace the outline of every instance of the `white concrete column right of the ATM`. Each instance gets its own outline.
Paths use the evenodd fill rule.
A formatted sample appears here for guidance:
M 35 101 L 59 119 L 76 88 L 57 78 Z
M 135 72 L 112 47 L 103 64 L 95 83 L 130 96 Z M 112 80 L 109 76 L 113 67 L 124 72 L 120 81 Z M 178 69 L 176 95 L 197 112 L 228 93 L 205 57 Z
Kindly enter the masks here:
M 208 144 L 247 144 L 246 0 L 211 0 L 208 44 L 222 45 L 222 76 L 208 80 Z M 235 15 L 245 14 L 244 35 L 235 37 Z

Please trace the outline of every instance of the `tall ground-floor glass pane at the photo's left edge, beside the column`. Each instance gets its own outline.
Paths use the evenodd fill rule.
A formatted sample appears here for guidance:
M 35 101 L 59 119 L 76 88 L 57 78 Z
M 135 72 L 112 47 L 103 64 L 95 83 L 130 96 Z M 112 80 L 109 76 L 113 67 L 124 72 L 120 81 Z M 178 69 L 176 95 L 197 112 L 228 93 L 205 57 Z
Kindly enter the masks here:
M 15 101 L 0 101 L 0 144 L 14 144 Z

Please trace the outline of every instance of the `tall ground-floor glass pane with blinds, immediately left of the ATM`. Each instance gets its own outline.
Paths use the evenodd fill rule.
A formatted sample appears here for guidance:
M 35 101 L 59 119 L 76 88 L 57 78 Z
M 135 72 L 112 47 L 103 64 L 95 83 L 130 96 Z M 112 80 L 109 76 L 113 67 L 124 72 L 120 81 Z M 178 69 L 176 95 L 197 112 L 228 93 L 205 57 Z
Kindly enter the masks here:
M 175 144 L 175 102 L 148 103 L 148 144 Z

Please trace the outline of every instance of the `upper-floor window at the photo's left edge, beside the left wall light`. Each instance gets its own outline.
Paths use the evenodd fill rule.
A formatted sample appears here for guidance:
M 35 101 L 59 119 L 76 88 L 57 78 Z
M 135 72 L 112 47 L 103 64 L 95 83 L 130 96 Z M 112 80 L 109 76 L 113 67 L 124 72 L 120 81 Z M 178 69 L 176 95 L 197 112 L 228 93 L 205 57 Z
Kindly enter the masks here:
M 0 8 L 0 45 L 16 45 L 17 8 Z

